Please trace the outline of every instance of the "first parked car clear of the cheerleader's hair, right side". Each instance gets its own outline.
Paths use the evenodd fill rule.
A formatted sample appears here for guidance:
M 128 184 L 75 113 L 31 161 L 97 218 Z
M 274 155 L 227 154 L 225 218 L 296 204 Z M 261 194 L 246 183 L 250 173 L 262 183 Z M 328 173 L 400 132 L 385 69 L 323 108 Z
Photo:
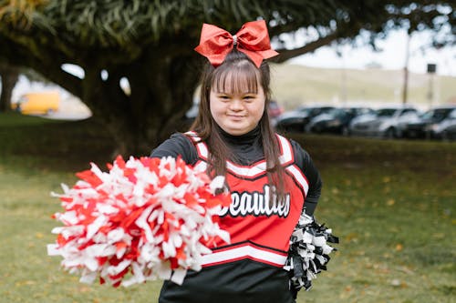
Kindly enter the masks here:
M 327 113 L 334 106 L 299 106 L 293 111 L 278 116 L 275 128 L 287 132 L 305 132 L 306 125 L 314 116 Z

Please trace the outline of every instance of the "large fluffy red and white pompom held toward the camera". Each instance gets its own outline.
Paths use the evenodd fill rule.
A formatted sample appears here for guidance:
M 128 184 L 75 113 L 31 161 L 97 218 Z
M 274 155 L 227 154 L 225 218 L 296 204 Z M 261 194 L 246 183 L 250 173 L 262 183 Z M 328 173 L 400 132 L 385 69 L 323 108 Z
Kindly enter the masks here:
M 56 244 L 50 256 L 80 280 L 115 287 L 163 278 L 181 284 L 187 269 L 200 270 L 216 237 L 229 243 L 218 225 L 220 207 L 230 204 L 223 177 L 211 180 L 181 158 L 118 157 L 109 172 L 95 164 L 78 173 L 72 188 L 62 185 L 65 211 L 55 217 Z

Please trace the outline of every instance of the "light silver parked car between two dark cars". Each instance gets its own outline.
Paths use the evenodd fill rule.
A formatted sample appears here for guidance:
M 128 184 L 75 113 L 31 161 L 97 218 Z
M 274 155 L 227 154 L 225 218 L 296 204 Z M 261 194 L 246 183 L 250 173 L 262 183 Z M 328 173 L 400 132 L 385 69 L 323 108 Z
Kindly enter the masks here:
M 354 118 L 348 130 L 353 136 L 379 136 L 396 138 L 402 136 L 406 124 L 420 119 L 417 109 L 410 106 L 384 107 L 374 114 Z

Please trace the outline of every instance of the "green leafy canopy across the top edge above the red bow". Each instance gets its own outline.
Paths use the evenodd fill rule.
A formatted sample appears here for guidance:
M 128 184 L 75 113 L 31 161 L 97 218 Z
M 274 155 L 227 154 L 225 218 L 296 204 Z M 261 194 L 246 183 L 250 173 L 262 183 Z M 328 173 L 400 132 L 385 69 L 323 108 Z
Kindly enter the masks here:
M 13 28 L 19 35 L 60 35 L 62 42 L 71 45 L 130 49 L 132 44 L 156 44 L 171 36 L 196 39 L 203 22 L 234 31 L 245 21 L 261 17 L 270 22 L 274 35 L 313 27 L 321 36 L 337 29 L 344 37 L 358 35 L 361 28 L 381 32 L 404 20 L 409 20 L 410 30 L 453 25 L 451 2 L 439 5 L 335 0 L 1 1 L 0 20 L 5 25 L 0 32 Z

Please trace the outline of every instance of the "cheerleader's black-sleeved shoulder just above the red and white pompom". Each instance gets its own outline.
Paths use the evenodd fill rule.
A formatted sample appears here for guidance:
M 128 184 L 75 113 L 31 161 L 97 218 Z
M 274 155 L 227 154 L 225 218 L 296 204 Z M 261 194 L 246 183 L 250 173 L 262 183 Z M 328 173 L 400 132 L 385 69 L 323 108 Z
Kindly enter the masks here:
M 192 140 L 184 134 L 175 133 L 153 149 L 150 157 L 181 157 L 185 163 L 193 164 L 198 156 Z

